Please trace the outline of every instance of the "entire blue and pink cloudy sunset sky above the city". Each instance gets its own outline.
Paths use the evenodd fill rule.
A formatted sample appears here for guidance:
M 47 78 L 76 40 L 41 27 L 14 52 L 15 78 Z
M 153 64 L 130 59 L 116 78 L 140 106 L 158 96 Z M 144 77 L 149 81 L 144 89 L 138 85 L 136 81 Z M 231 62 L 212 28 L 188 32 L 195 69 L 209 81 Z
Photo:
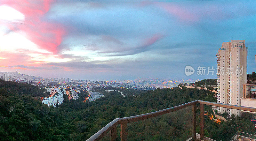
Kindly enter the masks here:
M 0 0 L 0 71 L 87 80 L 216 78 L 223 41 L 256 71 L 256 1 Z

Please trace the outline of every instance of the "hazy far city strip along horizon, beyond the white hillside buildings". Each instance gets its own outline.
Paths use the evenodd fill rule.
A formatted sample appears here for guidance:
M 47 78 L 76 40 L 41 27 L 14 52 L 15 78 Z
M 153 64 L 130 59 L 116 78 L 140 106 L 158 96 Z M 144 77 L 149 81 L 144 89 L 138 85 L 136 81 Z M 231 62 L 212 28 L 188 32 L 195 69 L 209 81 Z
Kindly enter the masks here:
M 156 88 L 172 88 L 178 86 L 180 83 L 193 83 L 199 79 L 159 79 L 159 78 L 137 78 L 134 80 L 123 81 L 93 81 L 93 80 L 74 80 L 69 78 L 43 78 L 21 74 L 19 72 L 0 72 L 0 79 L 5 81 L 24 82 L 32 85 L 42 87 L 54 85 L 69 85 L 76 87 L 78 90 L 90 91 L 96 87 L 116 87 L 138 90 L 152 90 Z

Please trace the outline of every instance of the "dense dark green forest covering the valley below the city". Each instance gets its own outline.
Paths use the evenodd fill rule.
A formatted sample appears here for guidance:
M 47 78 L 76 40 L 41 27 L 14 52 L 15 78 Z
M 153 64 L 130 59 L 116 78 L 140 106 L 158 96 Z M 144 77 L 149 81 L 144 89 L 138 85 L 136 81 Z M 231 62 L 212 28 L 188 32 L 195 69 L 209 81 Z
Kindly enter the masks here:
M 25 83 L 0 80 L 0 140 L 86 140 L 115 118 L 139 115 L 170 108 L 193 100 L 216 102 L 209 90 L 174 87 L 138 91 L 118 89 L 105 92 L 104 98 L 83 102 L 85 93 L 76 101 L 65 99 L 56 108 L 42 104 L 44 89 Z M 211 108 L 205 110 L 212 113 Z M 199 108 L 197 114 L 199 115 Z M 128 124 L 128 140 L 186 140 L 191 134 L 191 107 L 140 122 Z M 177 118 L 178 117 L 178 118 Z M 216 140 L 229 140 L 237 130 L 254 133 L 252 114 L 232 116 L 216 123 L 205 116 L 205 135 Z M 199 133 L 199 118 L 197 117 Z M 246 126 L 244 126 L 246 125 Z M 117 127 L 120 131 L 120 126 Z M 120 133 L 118 131 L 118 139 Z

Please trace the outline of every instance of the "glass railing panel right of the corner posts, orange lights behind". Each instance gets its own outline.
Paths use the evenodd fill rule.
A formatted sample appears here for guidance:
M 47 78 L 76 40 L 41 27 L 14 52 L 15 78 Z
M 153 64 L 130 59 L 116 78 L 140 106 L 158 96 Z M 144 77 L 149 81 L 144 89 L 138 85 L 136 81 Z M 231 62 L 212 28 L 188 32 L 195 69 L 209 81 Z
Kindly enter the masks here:
M 244 136 L 244 140 L 255 138 L 255 114 L 242 112 L 239 110 L 226 110 L 224 113 L 218 113 L 213 110 L 214 106 L 204 105 L 204 135 L 217 141 L 238 140 L 239 136 Z M 229 112 L 230 110 L 230 112 Z M 240 116 L 233 113 L 240 112 Z M 231 114 L 231 116 L 229 116 Z M 241 133 L 239 132 L 241 131 Z

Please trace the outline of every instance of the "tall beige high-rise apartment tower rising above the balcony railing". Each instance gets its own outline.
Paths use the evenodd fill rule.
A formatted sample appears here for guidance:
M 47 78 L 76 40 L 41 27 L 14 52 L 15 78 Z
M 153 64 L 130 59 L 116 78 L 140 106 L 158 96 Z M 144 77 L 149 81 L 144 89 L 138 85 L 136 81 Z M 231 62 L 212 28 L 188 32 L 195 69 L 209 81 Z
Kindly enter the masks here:
M 240 105 L 243 84 L 247 83 L 247 47 L 244 40 L 223 42 L 217 58 L 217 102 Z M 240 110 L 217 108 L 221 114 L 240 115 Z

